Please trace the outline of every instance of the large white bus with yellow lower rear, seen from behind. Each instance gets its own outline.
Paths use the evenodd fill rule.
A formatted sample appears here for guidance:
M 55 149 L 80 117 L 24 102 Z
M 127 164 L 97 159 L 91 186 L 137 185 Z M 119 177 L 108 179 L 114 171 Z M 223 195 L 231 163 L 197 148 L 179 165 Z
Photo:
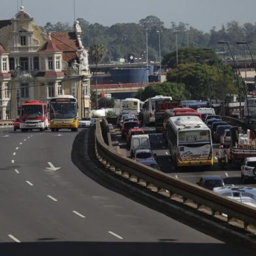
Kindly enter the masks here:
M 167 141 L 177 167 L 214 165 L 211 132 L 198 116 L 169 118 Z

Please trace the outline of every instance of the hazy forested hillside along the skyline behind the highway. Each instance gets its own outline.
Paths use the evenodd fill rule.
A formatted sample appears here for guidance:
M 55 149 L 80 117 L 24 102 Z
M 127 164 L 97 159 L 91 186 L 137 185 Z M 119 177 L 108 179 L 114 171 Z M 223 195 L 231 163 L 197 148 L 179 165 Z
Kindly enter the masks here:
M 110 27 L 95 23 L 90 24 L 83 18 L 78 18 L 82 27 L 82 40 L 86 48 L 95 42 L 101 42 L 107 50 L 104 62 L 116 61 L 121 57 L 134 54 L 135 57 L 145 60 L 146 51 L 146 28 L 148 29 L 148 57 L 152 61 L 159 61 L 159 37 L 157 31 L 161 31 L 161 54 L 174 52 L 176 49 L 175 30 L 178 32 L 178 47 L 213 48 L 216 52 L 226 52 L 227 46 L 217 44 L 225 40 L 231 45 L 235 55 L 244 55 L 245 46 L 236 45 L 238 41 L 248 42 L 251 52 L 256 52 L 256 24 L 229 22 L 221 29 L 213 27 L 209 33 L 195 29 L 191 25 L 180 22 L 172 22 L 170 28 L 165 27 L 163 22 L 155 16 L 148 16 L 138 23 L 114 24 Z M 67 23 L 57 22 L 45 25 L 47 31 L 72 31 L 72 26 Z M 248 53 L 247 53 L 248 54 Z

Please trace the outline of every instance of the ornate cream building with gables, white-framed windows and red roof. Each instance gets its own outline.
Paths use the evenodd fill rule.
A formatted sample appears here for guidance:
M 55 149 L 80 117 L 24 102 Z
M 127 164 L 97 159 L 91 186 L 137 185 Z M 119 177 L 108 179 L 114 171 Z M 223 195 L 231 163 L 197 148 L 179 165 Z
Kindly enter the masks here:
M 74 31 L 47 33 L 20 8 L 11 20 L 0 20 L 0 120 L 18 117 L 29 99 L 48 102 L 58 95 L 78 100 L 78 117 L 89 116 L 88 51 L 79 22 Z

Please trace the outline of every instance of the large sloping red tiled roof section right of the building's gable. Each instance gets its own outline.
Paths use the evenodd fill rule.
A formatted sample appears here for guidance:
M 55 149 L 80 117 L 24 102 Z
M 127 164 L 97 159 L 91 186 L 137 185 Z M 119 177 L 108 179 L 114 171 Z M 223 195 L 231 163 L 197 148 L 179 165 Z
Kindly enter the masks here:
M 56 44 L 63 54 L 62 57 L 69 64 L 76 59 L 78 61 L 77 50 L 79 48 L 75 32 L 53 32 L 51 33 L 52 41 Z

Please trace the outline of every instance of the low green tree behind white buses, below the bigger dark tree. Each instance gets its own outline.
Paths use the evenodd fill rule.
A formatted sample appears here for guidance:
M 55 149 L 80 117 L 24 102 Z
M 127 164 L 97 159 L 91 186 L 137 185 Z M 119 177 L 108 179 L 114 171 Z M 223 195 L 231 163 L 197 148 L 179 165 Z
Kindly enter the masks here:
M 146 99 L 154 97 L 155 95 L 171 96 L 172 99 L 188 99 L 189 93 L 185 90 L 184 84 L 163 82 L 163 84 L 150 84 L 145 89 L 139 89 L 134 95 L 136 99 Z

